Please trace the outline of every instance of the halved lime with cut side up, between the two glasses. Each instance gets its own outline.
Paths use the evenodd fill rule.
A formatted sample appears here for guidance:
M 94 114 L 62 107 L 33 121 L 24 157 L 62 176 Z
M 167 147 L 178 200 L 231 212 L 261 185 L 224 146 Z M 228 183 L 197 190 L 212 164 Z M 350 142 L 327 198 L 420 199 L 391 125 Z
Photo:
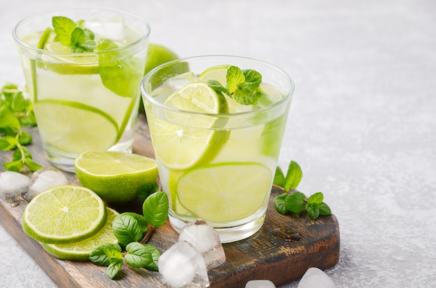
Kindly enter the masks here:
M 75 159 L 77 178 L 107 202 L 135 200 L 138 189 L 157 179 L 155 159 L 115 151 L 87 151 Z

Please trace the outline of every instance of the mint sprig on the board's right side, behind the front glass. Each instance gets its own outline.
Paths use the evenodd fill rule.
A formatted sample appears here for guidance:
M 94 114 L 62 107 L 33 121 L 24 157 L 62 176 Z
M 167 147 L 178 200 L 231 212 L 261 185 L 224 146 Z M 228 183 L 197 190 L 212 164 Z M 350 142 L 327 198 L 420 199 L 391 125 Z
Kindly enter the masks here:
M 288 212 L 299 214 L 306 209 L 307 214 L 313 219 L 319 216 L 332 214 L 330 207 L 323 202 L 324 195 L 321 192 L 314 193 L 309 198 L 299 191 L 295 191 L 303 177 L 302 169 L 295 161 L 290 161 L 286 177 L 280 167 L 277 167 L 274 175 L 274 185 L 279 186 L 284 193 L 274 199 L 276 210 L 285 215 Z

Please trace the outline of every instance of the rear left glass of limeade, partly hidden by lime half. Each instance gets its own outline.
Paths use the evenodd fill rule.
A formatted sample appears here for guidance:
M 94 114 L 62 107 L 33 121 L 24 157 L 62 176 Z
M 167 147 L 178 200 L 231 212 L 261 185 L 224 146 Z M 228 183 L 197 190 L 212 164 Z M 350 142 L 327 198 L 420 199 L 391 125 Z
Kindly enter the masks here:
M 49 10 L 15 26 L 26 87 L 54 166 L 74 171 L 75 157 L 86 150 L 132 151 L 149 33 L 141 17 L 109 8 Z

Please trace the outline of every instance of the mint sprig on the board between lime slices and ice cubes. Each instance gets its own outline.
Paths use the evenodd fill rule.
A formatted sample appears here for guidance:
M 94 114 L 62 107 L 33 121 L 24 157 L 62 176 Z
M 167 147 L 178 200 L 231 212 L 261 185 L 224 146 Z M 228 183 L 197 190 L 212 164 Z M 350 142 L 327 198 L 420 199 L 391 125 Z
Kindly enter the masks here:
M 111 279 L 116 278 L 123 267 L 123 259 L 134 268 L 157 271 L 160 252 L 145 242 L 150 233 L 164 225 L 168 218 L 168 196 L 162 191 L 157 191 L 144 200 L 142 209 L 143 215 L 125 212 L 112 222 L 112 231 L 119 244 L 101 244 L 89 255 L 94 264 L 107 266 L 106 275 Z M 125 247 L 125 252 L 121 246 Z

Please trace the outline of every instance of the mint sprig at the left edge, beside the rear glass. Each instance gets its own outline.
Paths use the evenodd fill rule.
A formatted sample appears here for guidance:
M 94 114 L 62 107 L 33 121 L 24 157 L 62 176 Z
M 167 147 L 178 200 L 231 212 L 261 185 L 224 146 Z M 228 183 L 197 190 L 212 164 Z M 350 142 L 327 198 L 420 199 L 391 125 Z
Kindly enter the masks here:
M 25 147 L 32 142 L 32 136 L 24 127 L 36 126 L 32 104 L 15 84 L 1 88 L 0 119 L 0 150 L 14 150 L 12 161 L 3 163 L 6 170 L 20 172 L 24 167 L 31 171 L 42 168 Z

